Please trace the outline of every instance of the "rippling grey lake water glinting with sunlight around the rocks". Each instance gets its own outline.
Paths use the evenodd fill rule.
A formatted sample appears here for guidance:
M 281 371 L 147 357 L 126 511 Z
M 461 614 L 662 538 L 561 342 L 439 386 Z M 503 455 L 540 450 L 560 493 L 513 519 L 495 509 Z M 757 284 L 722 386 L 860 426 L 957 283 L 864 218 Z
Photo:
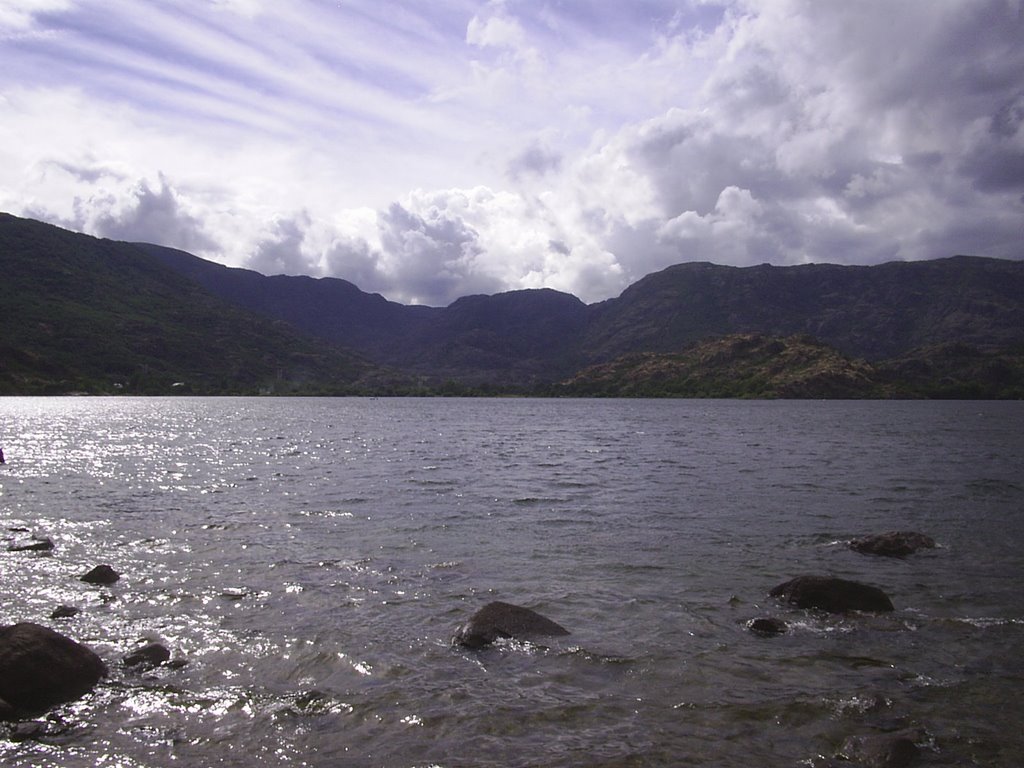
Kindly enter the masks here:
M 1022 426 L 1021 402 L 2 398 L 0 532 L 55 549 L 0 551 L 0 624 L 111 676 L 36 739 L 0 727 L 0 762 L 819 766 L 912 728 L 923 765 L 1016 767 Z M 896 528 L 940 546 L 846 547 Z M 121 581 L 78 581 L 100 562 Z M 896 610 L 766 596 L 801 573 Z M 490 600 L 572 634 L 452 647 Z M 185 664 L 125 669 L 146 639 Z

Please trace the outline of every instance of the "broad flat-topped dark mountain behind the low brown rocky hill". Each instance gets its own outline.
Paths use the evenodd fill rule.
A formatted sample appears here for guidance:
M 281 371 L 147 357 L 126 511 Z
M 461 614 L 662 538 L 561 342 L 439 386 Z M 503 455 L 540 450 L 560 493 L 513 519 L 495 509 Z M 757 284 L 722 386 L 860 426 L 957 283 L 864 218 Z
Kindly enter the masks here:
M 1024 263 L 678 264 L 595 305 L 583 348 L 601 361 L 737 333 L 807 334 L 867 359 L 951 341 L 1005 347 L 1024 340 Z

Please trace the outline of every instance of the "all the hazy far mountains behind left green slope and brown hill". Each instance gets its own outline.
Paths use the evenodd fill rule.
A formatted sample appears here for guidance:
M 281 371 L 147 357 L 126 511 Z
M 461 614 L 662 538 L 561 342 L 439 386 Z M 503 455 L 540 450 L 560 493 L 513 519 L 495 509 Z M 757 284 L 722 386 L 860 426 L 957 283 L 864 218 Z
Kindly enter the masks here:
M 710 337 L 807 335 L 882 360 L 922 347 L 1024 343 L 1024 262 L 957 256 L 878 266 L 728 267 L 687 263 L 585 305 L 556 291 L 403 306 L 345 281 L 264 278 L 144 247 L 247 309 L 430 379 L 536 385 L 639 351 Z

